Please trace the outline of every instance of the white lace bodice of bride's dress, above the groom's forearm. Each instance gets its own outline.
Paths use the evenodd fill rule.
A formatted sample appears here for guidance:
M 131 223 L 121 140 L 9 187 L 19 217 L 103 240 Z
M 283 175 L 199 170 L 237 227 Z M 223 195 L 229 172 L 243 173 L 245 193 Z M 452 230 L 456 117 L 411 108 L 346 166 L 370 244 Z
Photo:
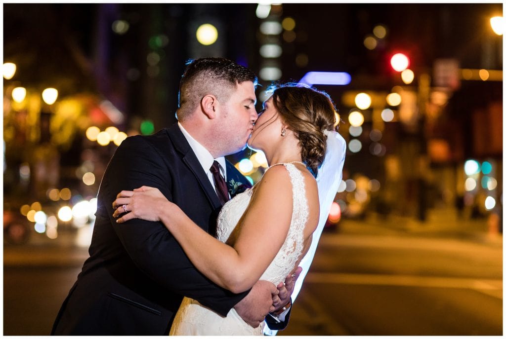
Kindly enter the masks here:
M 260 279 L 271 281 L 275 285 L 284 281 L 284 278 L 300 259 L 304 247 L 304 227 L 309 217 L 304 176 L 295 165 L 291 163 L 283 165 L 288 171 L 292 186 L 293 212 L 290 228 L 281 249 L 260 277 Z M 245 190 L 223 206 L 217 224 L 217 236 L 220 241 L 226 242 L 232 231 L 236 227 L 240 227 L 238 225 L 239 219 L 246 211 L 254 189 L 255 186 Z

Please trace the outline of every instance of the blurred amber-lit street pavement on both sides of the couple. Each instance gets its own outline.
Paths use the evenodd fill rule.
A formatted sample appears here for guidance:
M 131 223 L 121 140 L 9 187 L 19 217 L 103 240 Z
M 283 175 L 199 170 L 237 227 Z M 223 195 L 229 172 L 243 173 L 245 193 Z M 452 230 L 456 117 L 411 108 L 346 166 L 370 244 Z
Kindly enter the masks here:
M 278 334 L 501 335 L 502 236 L 450 212 L 326 230 Z M 5 335 L 48 335 L 87 257 L 71 236 L 47 244 L 4 246 Z

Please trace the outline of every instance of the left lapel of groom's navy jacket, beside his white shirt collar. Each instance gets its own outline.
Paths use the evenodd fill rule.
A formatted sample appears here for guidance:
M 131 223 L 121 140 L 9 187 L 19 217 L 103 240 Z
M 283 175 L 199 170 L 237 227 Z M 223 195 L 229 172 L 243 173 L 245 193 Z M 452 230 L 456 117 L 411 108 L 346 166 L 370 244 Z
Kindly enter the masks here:
M 188 166 L 197 179 L 211 206 L 213 206 L 215 210 L 221 208 L 222 205 L 216 195 L 214 187 L 209 182 L 207 175 L 198 162 L 197 156 L 193 153 L 188 141 L 183 135 L 183 132 L 179 129 L 178 124 L 174 124 L 170 129 L 168 129 L 168 135 L 174 143 L 174 147 L 183 154 L 183 162 Z

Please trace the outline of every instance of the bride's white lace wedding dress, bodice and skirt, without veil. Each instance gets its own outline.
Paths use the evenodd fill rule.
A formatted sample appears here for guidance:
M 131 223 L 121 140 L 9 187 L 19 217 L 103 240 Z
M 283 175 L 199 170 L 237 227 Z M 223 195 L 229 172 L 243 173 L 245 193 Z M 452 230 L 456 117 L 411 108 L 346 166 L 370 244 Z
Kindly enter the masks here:
M 292 184 L 291 224 L 283 246 L 260 277 L 261 280 L 271 281 L 275 285 L 283 281 L 293 270 L 303 253 L 304 227 L 309 216 L 303 174 L 292 163 L 283 165 L 288 171 Z M 223 206 L 217 224 L 220 241 L 226 242 L 235 229 L 249 204 L 252 189 L 254 188 L 238 194 Z M 265 241 L 269 239 L 266 238 Z M 264 325 L 265 322 L 253 328 L 242 320 L 233 308 L 226 317 L 223 317 L 202 306 L 196 300 L 184 298 L 174 319 L 170 335 L 263 335 Z

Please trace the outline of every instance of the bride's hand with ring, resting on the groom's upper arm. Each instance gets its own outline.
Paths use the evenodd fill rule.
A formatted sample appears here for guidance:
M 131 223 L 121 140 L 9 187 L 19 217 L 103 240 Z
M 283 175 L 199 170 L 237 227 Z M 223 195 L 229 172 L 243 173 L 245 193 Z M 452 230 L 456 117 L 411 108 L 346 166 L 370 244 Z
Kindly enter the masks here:
M 160 221 L 161 209 L 168 205 L 174 205 L 165 198 L 158 188 L 142 186 L 134 190 L 122 190 L 112 203 L 115 209 L 112 216 L 117 218 L 117 223 L 130 219 L 143 219 L 148 221 Z M 175 206 L 175 205 L 174 205 Z

